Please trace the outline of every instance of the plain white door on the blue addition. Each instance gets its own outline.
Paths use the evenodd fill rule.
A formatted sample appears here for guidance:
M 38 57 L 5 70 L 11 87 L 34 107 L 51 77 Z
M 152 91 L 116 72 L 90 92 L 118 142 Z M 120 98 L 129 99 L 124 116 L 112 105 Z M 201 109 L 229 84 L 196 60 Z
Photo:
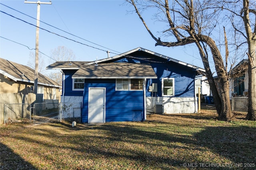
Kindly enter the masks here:
M 88 123 L 105 122 L 106 88 L 89 88 Z

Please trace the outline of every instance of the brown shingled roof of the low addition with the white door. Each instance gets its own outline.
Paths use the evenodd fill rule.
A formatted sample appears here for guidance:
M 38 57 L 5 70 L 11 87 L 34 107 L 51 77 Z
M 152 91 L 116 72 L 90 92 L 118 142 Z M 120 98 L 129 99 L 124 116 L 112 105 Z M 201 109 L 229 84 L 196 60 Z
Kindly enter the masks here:
M 157 78 L 148 64 L 102 63 L 82 66 L 72 78 Z

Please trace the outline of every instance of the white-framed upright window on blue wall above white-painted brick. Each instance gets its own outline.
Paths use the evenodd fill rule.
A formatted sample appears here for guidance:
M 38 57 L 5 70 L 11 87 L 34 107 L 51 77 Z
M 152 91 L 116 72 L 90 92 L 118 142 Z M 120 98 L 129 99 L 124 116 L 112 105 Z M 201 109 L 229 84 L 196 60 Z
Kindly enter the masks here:
M 162 96 L 174 96 L 174 78 L 162 78 Z

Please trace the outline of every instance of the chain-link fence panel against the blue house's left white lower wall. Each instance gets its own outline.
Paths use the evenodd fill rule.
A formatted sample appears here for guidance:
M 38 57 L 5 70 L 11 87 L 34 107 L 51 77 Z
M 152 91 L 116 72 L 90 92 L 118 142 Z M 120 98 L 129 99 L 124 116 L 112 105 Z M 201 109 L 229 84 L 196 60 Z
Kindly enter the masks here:
M 82 103 L 60 103 L 59 120 L 81 122 Z

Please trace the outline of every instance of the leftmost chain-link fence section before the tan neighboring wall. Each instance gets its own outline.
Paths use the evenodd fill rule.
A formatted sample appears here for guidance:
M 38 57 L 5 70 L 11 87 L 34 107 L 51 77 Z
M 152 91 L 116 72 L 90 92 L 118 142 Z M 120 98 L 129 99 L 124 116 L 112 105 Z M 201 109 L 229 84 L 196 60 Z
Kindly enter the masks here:
M 30 104 L 4 104 L 4 123 L 31 121 Z

